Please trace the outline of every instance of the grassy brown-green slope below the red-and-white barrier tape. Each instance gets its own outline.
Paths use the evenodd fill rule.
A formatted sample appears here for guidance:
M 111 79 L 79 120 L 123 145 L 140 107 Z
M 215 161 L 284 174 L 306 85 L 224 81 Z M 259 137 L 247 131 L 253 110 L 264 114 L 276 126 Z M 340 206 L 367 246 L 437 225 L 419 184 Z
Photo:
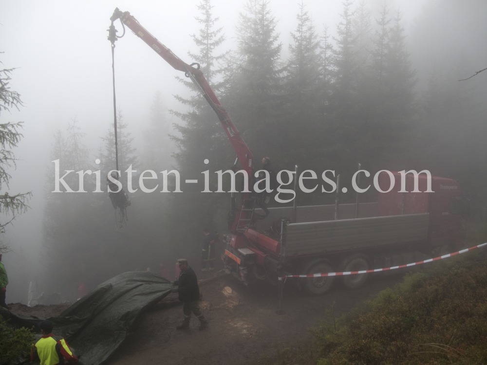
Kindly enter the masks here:
M 281 346 L 260 363 L 487 365 L 487 249 L 407 274 L 339 319 L 327 314 L 310 329 L 312 342 Z

